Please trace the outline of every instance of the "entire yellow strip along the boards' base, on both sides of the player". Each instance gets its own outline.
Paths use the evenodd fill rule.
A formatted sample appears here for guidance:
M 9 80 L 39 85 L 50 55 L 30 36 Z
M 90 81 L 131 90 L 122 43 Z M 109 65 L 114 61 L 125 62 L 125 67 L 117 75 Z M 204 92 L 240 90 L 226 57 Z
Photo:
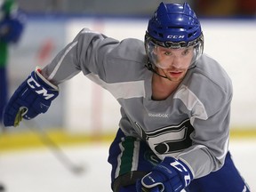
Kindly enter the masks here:
M 45 131 L 55 144 L 60 147 L 78 145 L 78 144 L 93 144 L 93 143 L 107 143 L 110 145 L 111 141 L 115 138 L 115 132 L 104 134 L 85 134 L 85 133 L 70 133 L 65 132 L 65 129 L 47 129 Z M 20 132 L 2 132 L 0 134 L 0 153 L 4 151 L 29 149 L 29 148 L 47 148 L 44 141 L 40 139 L 40 132 L 20 131 Z M 230 130 L 230 139 L 255 139 L 256 128 L 233 128 Z

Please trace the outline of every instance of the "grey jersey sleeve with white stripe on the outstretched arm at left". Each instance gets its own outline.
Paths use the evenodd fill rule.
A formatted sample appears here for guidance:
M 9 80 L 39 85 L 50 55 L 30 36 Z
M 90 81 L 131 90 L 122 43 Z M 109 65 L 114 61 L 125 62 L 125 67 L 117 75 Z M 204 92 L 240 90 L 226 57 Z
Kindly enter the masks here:
M 120 92 L 127 92 L 127 87 L 124 88 L 122 83 L 132 81 L 131 78 L 137 80 L 131 74 L 142 73 L 141 68 L 145 70 L 147 58 L 144 52 L 144 44 L 138 39 L 117 41 L 84 28 L 42 69 L 42 75 L 58 85 L 82 71 L 84 76 L 108 90 L 118 100 L 122 95 Z M 127 73 L 128 70 L 131 73 Z M 121 114 L 120 128 L 126 135 L 138 136 L 122 108 Z

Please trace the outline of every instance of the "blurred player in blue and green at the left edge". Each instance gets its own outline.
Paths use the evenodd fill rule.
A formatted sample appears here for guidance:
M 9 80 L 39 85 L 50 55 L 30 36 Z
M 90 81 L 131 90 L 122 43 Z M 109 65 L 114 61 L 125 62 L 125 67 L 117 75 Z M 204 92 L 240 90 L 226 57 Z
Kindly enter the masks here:
M 8 100 L 8 46 L 16 44 L 23 31 L 24 15 L 14 0 L 0 0 L 0 128 L 3 126 L 3 111 Z M 0 184 L 0 191 L 4 186 Z

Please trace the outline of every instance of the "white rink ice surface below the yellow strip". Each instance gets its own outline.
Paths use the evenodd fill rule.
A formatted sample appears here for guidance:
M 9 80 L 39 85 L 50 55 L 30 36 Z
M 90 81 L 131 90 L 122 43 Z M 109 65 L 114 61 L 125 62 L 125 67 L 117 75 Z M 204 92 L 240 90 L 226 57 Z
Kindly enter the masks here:
M 6 192 L 110 192 L 108 147 L 61 147 L 73 164 L 84 167 L 80 174 L 69 172 L 49 148 L 0 153 L 0 182 Z M 231 140 L 230 151 L 251 191 L 256 191 L 256 140 Z

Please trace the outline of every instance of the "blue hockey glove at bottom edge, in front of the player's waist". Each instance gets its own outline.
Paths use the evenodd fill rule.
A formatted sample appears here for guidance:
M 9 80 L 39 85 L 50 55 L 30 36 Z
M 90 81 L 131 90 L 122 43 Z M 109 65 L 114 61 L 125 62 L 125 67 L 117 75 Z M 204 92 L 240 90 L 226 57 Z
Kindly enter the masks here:
M 188 165 L 167 156 L 152 169 L 152 172 L 137 182 L 137 192 L 152 192 L 156 189 L 161 192 L 179 192 L 186 188 L 191 180 L 193 174 Z

